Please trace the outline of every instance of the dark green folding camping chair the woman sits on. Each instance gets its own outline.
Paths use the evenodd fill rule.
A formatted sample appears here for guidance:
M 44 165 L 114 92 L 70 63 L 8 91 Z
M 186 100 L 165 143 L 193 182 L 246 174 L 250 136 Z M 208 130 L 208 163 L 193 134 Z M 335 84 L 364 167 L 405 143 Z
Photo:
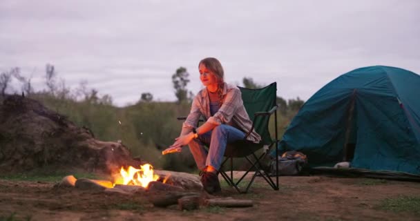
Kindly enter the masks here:
M 239 87 L 242 93 L 242 100 L 245 109 L 252 121 L 252 127 L 250 131 L 247 131 L 245 138 L 255 129 L 256 133 L 261 136 L 261 142 L 255 144 L 248 140 L 239 140 L 231 144 L 227 144 L 225 150 L 225 160 L 222 161 L 220 166 L 220 175 L 226 180 L 229 186 L 233 186 L 239 193 L 247 193 L 249 187 L 254 182 L 257 175 L 260 175 L 264 180 L 274 189 L 278 190 L 278 160 L 276 160 L 276 183 L 271 179 L 269 173 L 261 165 L 260 160 L 264 159 L 269 149 L 274 145 L 276 148 L 276 159 L 278 158 L 278 133 L 277 133 L 277 105 L 276 105 L 276 82 L 269 84 L 265 88 L 249 89 Z M 274 124 L 275 124 L 275 135 L 273 139 L 269 133 L 268 124 L 271 115 L 274 113 Z M 178 119 L 186 119 L 186 117 L 178 117 Z M 200 122 L 203 122 L 200 120 Z M 268 146 L 268 148 L 260 155 L 256 155 L 256 151 Z M 250 168 L 245 172 L 237 182 L 233 180 L 233 158 L 245 157 L 245 159 L 251 164 Z M 230 176 L 227 175 L 223 169 L 227 161 L 230 160 Z M 245 176 L 250 172 L 255 171 L 251 180 L 247 184 L 245 191 L 241 191 L 238 187 Z

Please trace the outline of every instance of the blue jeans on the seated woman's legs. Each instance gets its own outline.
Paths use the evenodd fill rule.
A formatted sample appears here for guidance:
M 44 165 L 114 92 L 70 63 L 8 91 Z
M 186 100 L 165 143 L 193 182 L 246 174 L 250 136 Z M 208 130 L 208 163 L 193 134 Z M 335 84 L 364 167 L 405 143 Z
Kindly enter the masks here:
M 194 156 L 198 169 L 203 170 L 206 166 L 213 166 L 220 169 L 223 155 L 225 154 L 226 144 L 243 140 L 245 133 L 233 126 L 220 124 L 212 131 L 199 135 L 191 140 L 188 146 Z M 209 151 L 204 145 L 209 146 Z

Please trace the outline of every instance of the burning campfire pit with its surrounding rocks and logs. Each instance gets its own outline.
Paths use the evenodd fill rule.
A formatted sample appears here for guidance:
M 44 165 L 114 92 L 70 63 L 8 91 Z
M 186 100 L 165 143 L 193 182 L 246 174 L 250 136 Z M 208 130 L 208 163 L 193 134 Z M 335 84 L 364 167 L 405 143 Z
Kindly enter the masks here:
M 151 164 L 140 168 L 122 167 L 111 180 L 76 179 L 68 175 L 56 187 L 75 187 L 85 191 L 103 191 L 106 194 L 146 195 L 154 206 L 166 207 L 178 204 L 182 210 L 198 209 L 199 206 L 252 206 L 250 200 L 213 198 L 202 191 L 198 175 L 173 171 L 155 171 Z M 144 193 L 144 194 L 142 194 Z M 211 199 L 210 199 L 211 198 Z

